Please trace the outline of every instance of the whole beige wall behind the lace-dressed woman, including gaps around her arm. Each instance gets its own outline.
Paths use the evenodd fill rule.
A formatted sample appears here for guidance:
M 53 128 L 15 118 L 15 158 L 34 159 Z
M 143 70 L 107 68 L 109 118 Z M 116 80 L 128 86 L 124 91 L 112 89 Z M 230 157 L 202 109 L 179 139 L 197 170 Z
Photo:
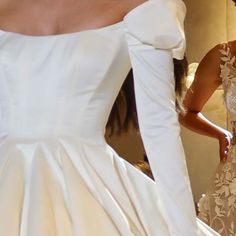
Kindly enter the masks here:
M 232 0 L 185 0 L 186 38 L 189 63 L 199 62 L 221 42 L 236 39 L 236 7 Z M 223 90 L 218 89 L 203 110 L 204 115 L 227 128 Z M 219 163 L 218 141 L 182 128 L 189 175 L 195 202 L 205 193 Z

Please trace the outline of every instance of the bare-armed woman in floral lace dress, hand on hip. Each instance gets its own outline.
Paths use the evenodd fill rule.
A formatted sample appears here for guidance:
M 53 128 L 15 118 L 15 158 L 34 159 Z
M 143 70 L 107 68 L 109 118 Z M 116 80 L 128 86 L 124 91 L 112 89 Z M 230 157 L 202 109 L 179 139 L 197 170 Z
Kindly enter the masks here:
M 230 114 L 231 132 L 201 114 L 202 107 L 220 85 Z M 216 138 L 220 148 L 221 162 L 200 200 L 199 217 L 223 236 L 236 235 L 236 41 L 219 44 L 206 54 L 184 104 L 186 114 L 181 115 L 181 123 L 199 134 Z

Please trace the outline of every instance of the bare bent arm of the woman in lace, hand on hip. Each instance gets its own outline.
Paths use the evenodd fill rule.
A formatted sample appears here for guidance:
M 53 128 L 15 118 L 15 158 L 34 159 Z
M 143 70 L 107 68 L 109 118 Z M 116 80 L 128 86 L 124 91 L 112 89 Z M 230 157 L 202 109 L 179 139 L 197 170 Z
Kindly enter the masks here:
M 221 84 L 219 76 L 221 63 L 219 50 L 221 47 L 221 45 L 217 45 L 211 49 L 200 62 L 195 79 L 184 99 L 186 113 L 182 113 L 179 120 L 183 126 L 192 131 L 218 139 L 220 159 L 225 160 L 231 139 L 230 132 L 213 124 L 201 113 L 203 106 Z

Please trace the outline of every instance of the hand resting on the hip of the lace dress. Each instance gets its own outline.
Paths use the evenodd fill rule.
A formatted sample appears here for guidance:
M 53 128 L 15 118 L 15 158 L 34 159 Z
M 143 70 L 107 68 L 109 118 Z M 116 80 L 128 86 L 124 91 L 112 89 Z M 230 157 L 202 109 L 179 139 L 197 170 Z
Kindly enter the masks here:
M 231 146 L 232 134 L 229 131 L 224 131 L 219 136 L 220 161 L 225 162 L 228 158 L 229 148 Z

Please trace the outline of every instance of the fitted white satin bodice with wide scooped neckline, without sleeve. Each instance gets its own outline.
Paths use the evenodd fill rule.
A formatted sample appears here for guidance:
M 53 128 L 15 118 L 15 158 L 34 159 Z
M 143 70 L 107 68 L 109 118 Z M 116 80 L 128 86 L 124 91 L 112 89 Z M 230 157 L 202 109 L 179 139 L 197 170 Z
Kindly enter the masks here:
M 0 135 L 103 135 L 130 70 L 122 22 L 77 33 L 0 32 Z

